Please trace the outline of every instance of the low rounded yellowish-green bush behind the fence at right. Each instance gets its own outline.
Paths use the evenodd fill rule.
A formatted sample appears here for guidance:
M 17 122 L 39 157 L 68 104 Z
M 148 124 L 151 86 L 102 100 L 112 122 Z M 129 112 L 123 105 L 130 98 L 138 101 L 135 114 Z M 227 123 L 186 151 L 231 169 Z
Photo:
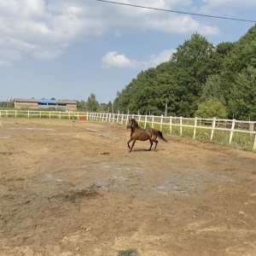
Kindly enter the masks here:
M 224 107 L 222 102 L 219 102 L 215 98 L 199 104 L 198 109 L 195 112 L 196 117 L 205 119 L 211 119 L 213 117 L 217 119 L 224 119 L 227 117 L 227 115 L 227 109 Z

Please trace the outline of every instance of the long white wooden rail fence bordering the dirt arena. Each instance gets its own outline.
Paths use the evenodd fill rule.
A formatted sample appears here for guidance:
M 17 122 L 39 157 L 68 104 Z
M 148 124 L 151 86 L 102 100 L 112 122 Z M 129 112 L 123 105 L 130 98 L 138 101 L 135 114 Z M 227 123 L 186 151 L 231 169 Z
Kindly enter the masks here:
M 199 140 L 214 141 L 218 138 L 224 144 L 243 144 L 247 149 L 256 150 L 256 122 L 236 119 L 199 119 L 183 117 L 164 117 L 152 115 L 120 114 L 120 113 L 84 113 L 60 111 L 21 111 L 0 110 L 0 116 L 48 118 L 48 119 L 87 119 L 126 125 L 129 118 L 137 119 L 139 125 L 159 129 L 177 136 L 193 137 Z M 222 131 L 221 134 L 219 131 Z M 223 132 L 224 131 L 224 132 Z M 239 137 L 237 135 L 240 135 Z M 241 134 L 244 136 L 242 137 Z

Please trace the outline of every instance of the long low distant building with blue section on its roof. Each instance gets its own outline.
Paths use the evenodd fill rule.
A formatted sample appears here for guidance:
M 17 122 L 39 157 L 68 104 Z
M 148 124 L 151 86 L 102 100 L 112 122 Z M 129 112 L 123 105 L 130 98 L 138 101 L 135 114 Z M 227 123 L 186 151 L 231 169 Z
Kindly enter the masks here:
M 18 99 L 13 100 L 15 102 L 15 108 L 56 108 L 66 111 L 76 111 L 78 108 L 76 101 L 56 101 L 56 100 L 36 100 L 36 99 Z

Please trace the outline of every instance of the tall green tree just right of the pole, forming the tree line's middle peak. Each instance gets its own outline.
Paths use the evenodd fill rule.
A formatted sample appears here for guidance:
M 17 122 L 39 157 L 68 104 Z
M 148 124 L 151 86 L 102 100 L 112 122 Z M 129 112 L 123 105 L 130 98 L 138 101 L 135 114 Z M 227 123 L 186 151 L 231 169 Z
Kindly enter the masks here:
M 212 74 L 211 56 L 213 44 L 206 38 L 195 33 L 184 44 L 177 47 L 172 55 L 172 61 L 177 65 L 177 102 L 178 115 L 192 116 L 198 105 L 203 84 Z

